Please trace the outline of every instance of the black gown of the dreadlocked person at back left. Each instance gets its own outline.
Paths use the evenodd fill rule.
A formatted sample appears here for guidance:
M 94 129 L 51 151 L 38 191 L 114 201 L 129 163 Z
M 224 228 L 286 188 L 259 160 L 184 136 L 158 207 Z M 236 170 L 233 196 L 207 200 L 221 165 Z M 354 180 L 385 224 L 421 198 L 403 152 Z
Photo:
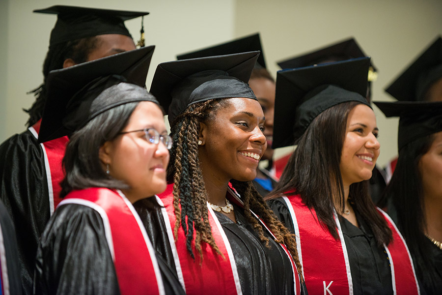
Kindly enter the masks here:
M 37 245 L 50 211 L 44 154 L 30 131 L 0 146 L 0 198 L 17 232 L 23 293 L 31 294 Z

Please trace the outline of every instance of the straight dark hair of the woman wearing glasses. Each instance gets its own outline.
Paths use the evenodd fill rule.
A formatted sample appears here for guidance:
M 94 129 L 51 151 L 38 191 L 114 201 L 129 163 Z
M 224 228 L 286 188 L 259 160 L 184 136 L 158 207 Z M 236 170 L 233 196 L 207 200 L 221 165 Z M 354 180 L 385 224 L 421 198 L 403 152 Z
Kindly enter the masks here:
M 126 127 L 137 105 L 138 102 L 131 102 L 112 108 L 90 120 L 70 137 L 63 158 L 65 177 L 60 183 L 60 197 L 74 189 L 88 187 L 128 188 L 126 183 L 106 174 L 99 150 Z

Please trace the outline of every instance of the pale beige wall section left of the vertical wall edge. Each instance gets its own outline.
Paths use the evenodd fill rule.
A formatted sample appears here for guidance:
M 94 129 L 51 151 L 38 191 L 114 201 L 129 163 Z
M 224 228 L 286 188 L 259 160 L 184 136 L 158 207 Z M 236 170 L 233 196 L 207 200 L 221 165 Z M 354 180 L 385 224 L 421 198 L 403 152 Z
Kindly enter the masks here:
M 34 97 L 27 91 L 43 81 L 42 66 L 49 35 L 56 17 L 32 13 L 52 5 L 77 5 L 109 9 L 149 11 L 144 18 L 146 45 L 156 45 L 147 76 L 147 86 L 158 63 L 180 53 L 234 37 L 234 0 L 0 0 L 0 142 L 25 130 Z M 104 6 L 106 3 L 106 6 Z M 3 9 L 5 8 L 5 9 Z M 7 18 L 6 18 L 7 16 Z M 2 26 L 3 21 L 8 25 Z M 139 39 L 141 19 L 126 22 L 134 39 Z M 2 46 L 6 45 L 5 50 Z M 3 60 L 5 64 L 3 64 Z

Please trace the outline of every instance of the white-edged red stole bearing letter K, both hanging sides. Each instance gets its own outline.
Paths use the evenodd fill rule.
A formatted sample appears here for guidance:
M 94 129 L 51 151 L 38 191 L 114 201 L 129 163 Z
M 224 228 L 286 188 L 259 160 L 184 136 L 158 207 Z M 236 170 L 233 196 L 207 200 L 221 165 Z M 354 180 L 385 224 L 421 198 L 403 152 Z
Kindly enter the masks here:
M 339 219 L 335 220 L 339 239 L 324 229 L 315 210 L 304 205 L 299 195 L 283 197 L 292 217 L 298 255 L 303 265 L 305 285 L 311 294 L 352 295 L 353 282 L 347 248 Z M 382 210 L 393 232 L 393 241 L 386 247 L 390 261 L 394 294 L 420 294 L 414 266 L 404 239 Z

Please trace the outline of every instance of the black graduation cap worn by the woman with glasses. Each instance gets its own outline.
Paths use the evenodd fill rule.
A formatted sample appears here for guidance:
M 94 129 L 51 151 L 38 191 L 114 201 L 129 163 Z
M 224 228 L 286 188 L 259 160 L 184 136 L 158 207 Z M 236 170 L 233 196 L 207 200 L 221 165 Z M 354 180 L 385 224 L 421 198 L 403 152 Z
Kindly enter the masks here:
M 38 142 L 70 135 L 122 104 L 158 103 L 144 88 L 154 49 L 143 47 L 51 71 Z

